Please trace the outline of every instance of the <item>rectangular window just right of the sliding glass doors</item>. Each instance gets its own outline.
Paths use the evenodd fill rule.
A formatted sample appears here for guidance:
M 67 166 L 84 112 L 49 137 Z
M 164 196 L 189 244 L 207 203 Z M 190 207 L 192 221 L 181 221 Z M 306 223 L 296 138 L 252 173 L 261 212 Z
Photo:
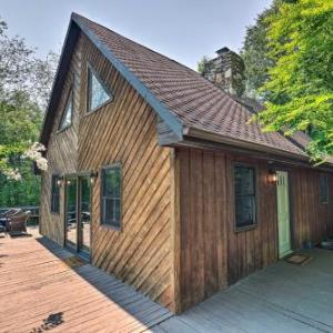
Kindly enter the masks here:
M 120 226 L 121 223 L 121 165 L 102 169 L 101 223 Z

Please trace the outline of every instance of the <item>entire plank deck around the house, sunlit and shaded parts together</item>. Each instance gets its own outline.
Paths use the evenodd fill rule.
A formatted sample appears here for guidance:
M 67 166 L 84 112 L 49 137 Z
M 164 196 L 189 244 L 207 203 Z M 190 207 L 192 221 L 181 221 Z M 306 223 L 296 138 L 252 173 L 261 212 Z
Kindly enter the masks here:
M 43 238 L 0 239 L 0 332 L 333 332 L 333 252 L 309 253 L 174 316 Z

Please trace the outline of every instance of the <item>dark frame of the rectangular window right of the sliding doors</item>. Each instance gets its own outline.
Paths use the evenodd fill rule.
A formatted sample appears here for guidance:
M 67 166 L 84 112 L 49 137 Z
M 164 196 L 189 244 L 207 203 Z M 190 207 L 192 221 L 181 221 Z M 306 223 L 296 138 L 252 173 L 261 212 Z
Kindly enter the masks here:
M 111 169 L 119 169 L 120 172 L 120 189 L 119 189 L 119 221 L 118 223 L 108 223 L 104 221 L 104 198 L 109 198 L 109 196 L 104 196 L 103 195 L 103 191 L 104 191 L 104 181 L 103 181 L 103 174 L 107 170 L 111 170 Z M 100 225 L 102 228 L 108 228 L 108 229 L 112 229 L 112 230 L 118 230 L 118 231 L 122 231 L 122 164 L 120 162 L 115 162 L 112 164 L 108 164 L 108 165 L 103 165 L 101 167 L 100 170 Z M 109 198 L 111 199 L 111 198 Z

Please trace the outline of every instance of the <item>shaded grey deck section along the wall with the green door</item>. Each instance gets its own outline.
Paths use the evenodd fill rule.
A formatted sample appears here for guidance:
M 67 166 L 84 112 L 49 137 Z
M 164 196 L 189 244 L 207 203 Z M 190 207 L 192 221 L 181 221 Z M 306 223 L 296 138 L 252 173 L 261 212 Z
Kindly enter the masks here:
M 333 251 L 259 271 L 150 332 L 333 332 Z

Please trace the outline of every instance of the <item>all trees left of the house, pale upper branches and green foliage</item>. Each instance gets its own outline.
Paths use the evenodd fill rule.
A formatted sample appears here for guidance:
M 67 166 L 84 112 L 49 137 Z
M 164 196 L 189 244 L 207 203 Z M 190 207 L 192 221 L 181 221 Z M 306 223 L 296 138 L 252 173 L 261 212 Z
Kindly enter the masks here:
M 40 179 L 24 151 L 39 139 L 58 57 L 36 58 L 0 20 L 0 206 L 38 204 Z

